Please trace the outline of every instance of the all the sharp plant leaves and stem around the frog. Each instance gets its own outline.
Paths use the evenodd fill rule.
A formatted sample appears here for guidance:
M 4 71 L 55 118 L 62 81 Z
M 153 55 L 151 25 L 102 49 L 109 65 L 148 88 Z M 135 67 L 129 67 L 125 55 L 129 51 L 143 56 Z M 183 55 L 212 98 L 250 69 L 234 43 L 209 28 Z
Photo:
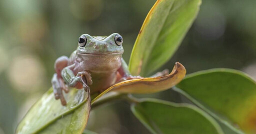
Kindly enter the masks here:
M 173 55 L 195 19 L 200 2 L 155 2 L 131 53 L 129 70 L 133 75 L 148 76 Z M 49 89 L 20 122 L 16 134 L 94 134 L 83 131 L 90 108 L 114 99 L 130 102 L 134 116 L 153 134 L 256 133 L 254 80 L 230 69 L 205 70 L 183 79 L 184 75 L 184 67 L 176 63 L 167 76 L 117 83 L 93 97 L 91 104 L 87 92 L 74 89 L 65 96 L 67 107 L 60 106 Z M 160 92 L 174 85 L 182 103 L 136 99 L 130 95 Z

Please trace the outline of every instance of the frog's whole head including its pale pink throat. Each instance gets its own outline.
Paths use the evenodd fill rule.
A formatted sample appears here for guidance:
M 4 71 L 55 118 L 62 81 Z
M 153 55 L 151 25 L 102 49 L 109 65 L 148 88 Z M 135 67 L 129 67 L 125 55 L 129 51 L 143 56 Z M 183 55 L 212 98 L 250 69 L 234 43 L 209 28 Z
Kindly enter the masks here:
M 91 72 L 116 71 L 121 66 L 122 53 L 122 37 L 118 33 L 109 36 L 82 34 L 78 38 L 76 61 Z

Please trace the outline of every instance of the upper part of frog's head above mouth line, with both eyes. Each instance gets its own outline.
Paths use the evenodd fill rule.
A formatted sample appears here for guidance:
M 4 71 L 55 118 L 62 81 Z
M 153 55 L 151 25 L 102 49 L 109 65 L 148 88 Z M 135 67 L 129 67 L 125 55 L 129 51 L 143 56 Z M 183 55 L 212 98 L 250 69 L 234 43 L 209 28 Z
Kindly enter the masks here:
M 122 54 L 122 37 L 118 33 L 109 36 L 90 36 L 82 34 L 78 38 L 77 53 L 105 55 L 105 54 Z

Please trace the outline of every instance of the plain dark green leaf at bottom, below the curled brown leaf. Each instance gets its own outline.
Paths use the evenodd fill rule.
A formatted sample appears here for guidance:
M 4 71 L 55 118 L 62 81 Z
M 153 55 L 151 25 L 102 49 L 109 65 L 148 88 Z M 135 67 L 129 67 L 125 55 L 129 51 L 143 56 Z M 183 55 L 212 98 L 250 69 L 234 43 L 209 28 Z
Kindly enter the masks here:
M 223 134 L 214 119 L 190 104 L 143 99 L 131 111 L 153 134 Z

